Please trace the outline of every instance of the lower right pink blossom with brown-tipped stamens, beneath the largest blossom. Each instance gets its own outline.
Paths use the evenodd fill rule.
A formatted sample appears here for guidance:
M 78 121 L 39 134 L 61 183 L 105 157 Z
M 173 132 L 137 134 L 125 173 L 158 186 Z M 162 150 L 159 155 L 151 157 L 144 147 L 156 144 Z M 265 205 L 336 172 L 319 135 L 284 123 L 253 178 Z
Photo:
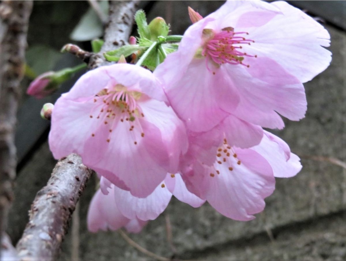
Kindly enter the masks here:
M 245 149 L 230 146 L 226 138 L 217 142 L 224 135 L 218 128 L 190 133 L 190 158 L 185 157 L 182 171 L 186 187 L 226 217 L 255 218 L 275 189 L 274 177 L 292 177 L 301 169 L 299 157 L 282 139 L 264 133 L 260 144 Z

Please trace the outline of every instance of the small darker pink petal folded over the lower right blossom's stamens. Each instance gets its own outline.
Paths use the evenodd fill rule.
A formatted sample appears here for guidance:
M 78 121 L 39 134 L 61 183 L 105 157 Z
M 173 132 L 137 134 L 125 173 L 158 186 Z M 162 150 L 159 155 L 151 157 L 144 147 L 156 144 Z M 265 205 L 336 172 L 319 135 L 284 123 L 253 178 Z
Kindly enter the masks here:
M 228 144 L 241 148 L 257 145 L 263 137 L 263 129 L 260 126 L 248 123 L 233 115 L 227 116 L 222 121 L 222 129 Z

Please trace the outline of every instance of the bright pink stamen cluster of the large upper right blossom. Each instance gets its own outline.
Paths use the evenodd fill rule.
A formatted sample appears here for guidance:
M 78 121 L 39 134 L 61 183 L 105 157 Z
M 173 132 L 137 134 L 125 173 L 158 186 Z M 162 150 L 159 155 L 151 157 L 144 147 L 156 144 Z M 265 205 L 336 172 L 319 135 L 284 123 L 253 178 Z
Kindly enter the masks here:
M 205 57 L 210 57 L 216 65 L 229 63 L 250 67 L 250 65 L 243 63 L 245 56 L 257 57 L 257 55 L 249 55 L 242 52 L 242 45 L 251 45 L 251 43 L 255 42 L 243 36 L 248 34 L 247 32 L 234 32 L 232 27 L 224 28 L 216 34 L 213 34 L 210 29 L 204 29 L 203 37 L 209 39 L 204 44 L 201 54 Z

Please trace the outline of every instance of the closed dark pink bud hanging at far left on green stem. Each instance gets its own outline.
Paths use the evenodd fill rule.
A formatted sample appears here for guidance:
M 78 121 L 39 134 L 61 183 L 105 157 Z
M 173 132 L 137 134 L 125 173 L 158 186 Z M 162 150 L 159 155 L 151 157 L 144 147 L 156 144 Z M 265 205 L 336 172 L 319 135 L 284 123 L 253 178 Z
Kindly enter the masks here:
M 54 72 L 45 72 L 39 75 L 34 81 L 30 83 L 26 93 L 28 95 L 36 97 L 37 99 L 42 99 L 48 96 L 56 89 L 52 84 L 53 75 Z

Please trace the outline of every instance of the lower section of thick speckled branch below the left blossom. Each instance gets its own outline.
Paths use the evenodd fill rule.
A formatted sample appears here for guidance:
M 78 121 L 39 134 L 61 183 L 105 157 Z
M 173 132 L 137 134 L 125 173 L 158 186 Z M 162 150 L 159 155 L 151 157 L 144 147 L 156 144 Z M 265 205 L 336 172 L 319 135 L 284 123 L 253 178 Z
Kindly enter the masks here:
M 37 192 L 29 223 L 17 244 L 20 260 L 54 260 L 92 170 L 71 154 L 58 161 L 47 186 Z

